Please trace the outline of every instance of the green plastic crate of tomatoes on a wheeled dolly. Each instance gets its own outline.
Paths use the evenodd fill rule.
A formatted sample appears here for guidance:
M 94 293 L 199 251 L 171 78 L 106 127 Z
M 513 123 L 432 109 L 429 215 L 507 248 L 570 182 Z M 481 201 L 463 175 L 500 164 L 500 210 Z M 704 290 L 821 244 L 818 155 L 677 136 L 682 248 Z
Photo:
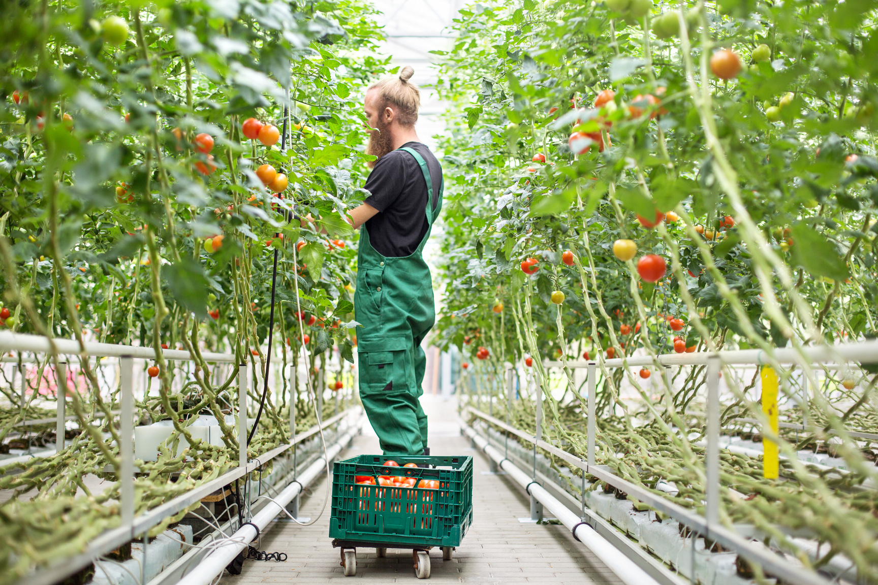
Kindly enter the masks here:
M 399 467 L 385 467 L 392 459 Z M 406 463 L 432 467 L 402 467 Z M 333 464 L 329 536 L 404 546 L 459 546 L 472 523 L 472 458 L 359 455 Z M 356 475 L 437 480 L 440 489 L 357 484 Z M 417 485 L 417 484 L 416 484 Z

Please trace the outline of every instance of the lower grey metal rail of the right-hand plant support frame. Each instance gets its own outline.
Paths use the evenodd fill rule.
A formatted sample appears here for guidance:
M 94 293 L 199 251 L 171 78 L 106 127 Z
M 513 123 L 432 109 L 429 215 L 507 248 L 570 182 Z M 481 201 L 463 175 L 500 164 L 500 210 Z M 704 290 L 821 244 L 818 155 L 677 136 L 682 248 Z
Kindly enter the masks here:
M 568 362 L 568 365 L 569 363 L 570 362 Z M 619 477 L 609 471 L 607 466 L 590 466 L 587 461 L 581 460 L 579 457 L 558 449 L 558 447 L 543 440 L 535 441 L 532 435 L 522 432 L 519 429 L 504 423 L 500 419 L 487 415 L 481 410 L 476 410 L 471 406 L 466 406 L 464 412 L 469 412 L 473 416 L 482 418 L 488 423 L 500 427 L 504 431 L 511 432 L 520 439 L 534 443 L 536 446 L 543 449 L 543 451 L 547 451 L 559 459 L 565 460 L 574 467 L 579 467 L 579 469 L 582 469 L 585 473 L 594 475 L 599 480 L 607 482 L 615 489 L 621 489 L 626 494 L 647 504 L 653 510 L 658 510 L 659 512 L 673 517 L 673 519 L 680 522 L 680 524 L 685 524 L 690 530 L 700 534 L 705 539 L 714 540 L 720 545 L 734 550 L 746 560 L 761 566 L 766 573 L 772 574 L 774 577 L 778 577 L 791 583 L 796 583 L 796 585 L 831 585 L 833 582 L 824 579 L 824 577 L 821 577 L 819 574 L 815 574 L 803 567 L 795 567 L 773 551 L 752 543 L 750 540 L 741 537 L 733 530 L 722 525 L 709 524 L 705 517 L 675 503 L 668 502 L 665 498 L 656 496 L 651 491 L 643 489 L 640 486 Z

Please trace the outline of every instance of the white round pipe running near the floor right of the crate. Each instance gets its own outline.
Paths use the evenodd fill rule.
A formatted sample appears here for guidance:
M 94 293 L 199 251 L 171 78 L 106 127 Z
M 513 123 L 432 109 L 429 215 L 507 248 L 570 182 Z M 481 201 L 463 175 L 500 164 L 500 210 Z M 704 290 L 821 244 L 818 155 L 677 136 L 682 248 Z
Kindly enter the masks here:
M 594 528 L 582 522 L 579 516 L 558 501 L 543 486 L 534 482 L 529 474 L 515 467 L 512 461 L 489 445 L 487 440 L 479 435 L 471 426 L 461 423 L 461 428 L 466 436 L 472 439 L 482 452 L 496 462 L 497 466 L 505 471 L 509 477 L 519 482 L 530 496 L 534 496 L 539 503 L 542 503 L 543 508 L 550 511 L 554 517 L 561 521 L 561 524 L 564 524 L 572 531 L 573 538 L 579 540 L 587 549 L 601 559 L 609 570 L 613 571 L 625 585 L 659 585 L 658 581 L 653 579 L 642 568 L 637 567 L 619 549 L 598 534 Z

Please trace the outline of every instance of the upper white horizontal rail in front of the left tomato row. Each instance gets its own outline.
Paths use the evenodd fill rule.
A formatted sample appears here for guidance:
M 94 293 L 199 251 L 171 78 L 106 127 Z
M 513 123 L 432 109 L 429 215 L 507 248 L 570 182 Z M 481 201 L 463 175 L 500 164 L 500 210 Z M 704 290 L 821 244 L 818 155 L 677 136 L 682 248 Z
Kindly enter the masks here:
M 42 335 L 27 333 L 0 332 L 0 352 L 17 351 L 50 353 L 54 343 L 55 351 L 65 355 L 79 355 L 81 347 L 76 339 L 52 339 Z M 120 346 L 114 343 L 85 342 L 85 353 L 96 357 L 117 357 L 130 355 L 133 358 L 155 360 L 155 349 L 150 346 Z M 189 352 L 177 349 L 164 349 L 165 360 L 191 360 Z M 210 362 L 234 363 L 234 353 L 202 352 L 201 357 Z M 18 361 L 18 360 L 16 360 Z

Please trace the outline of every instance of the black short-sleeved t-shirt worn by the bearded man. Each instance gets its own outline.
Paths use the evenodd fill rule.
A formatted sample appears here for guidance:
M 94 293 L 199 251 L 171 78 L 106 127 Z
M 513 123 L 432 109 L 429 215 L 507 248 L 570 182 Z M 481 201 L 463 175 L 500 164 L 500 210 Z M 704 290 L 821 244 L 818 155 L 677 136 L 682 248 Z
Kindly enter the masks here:
M 439 203 L 442 167 L 430 149 L 420 142 L 402 145 L 414 149 L 427 161 L 430 181 L 433 183 L 433 209 Z M 378 210 L 366 222 L 369 240 L 378 253 L 389 256 L 408 256 L 418 248 L 427 233 L 427 182 L 421 165 L 412 153 L 394 150 L 378 162 L 365 189 L 371 193 L 365 203 Z

